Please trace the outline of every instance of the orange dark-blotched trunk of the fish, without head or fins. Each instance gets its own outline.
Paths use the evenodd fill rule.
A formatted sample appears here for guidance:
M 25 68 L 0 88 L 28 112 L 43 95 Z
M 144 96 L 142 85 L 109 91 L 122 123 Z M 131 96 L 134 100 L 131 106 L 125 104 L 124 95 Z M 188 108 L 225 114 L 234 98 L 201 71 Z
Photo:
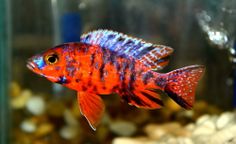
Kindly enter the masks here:
M 156 78 L 158 73 L 149 71 L 138 60 L 117 56 L 97 46 L 73 43 L 68 44 L 68 47 L 71 47 L 73 52 L 67 52 L 66 56 L 73 59 L 69 62 L 65 59 L 62 63 L 63 65 L 67 63 L 66 67 L 69 70 L 66 71 L 66 79 L 70 83 L 62 84 L 71 89 L 96 94 L 111 94 L 122 93 L 123 89 L 133 90 L 147 86 L 158 88 L 154 83 L 154 77 Z M 147 73 L 155 76 L 145 79 Z

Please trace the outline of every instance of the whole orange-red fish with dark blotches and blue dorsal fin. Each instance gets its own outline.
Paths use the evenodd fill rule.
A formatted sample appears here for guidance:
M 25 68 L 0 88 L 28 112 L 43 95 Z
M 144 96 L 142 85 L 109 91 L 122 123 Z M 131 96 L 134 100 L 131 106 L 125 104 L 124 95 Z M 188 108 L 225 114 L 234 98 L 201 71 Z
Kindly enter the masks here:
M 164 68 L 173 49 L 110 30 L 81 36 L 35 55 L 27 67 L 48 80 L 78 92 L 81 113 L 95 130 L 105 106 L 100 95 L 117 93 L 138 108 L 158 109 L 160 95 L 190 109 L 204 66 L 191 65 L 168 73 Z

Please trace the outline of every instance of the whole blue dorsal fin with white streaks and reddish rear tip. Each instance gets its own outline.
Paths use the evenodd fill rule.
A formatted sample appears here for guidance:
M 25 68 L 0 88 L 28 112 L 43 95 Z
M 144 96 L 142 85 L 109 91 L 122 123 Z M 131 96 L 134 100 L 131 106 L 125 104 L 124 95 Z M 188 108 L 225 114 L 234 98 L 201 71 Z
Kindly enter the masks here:
M 163 45 L 154 45 L 111 30 L 95 30 L 80 37 L 80 42 L 98 45 L 102 48 L 140 59 L 152 69 L 160 70 L 168 64 L 173 49 Z

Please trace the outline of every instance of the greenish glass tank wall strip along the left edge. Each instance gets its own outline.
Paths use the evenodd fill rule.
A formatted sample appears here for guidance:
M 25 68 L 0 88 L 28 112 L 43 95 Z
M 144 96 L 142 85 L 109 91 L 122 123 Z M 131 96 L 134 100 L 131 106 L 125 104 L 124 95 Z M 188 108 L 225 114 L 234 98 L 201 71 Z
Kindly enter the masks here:
M 0 143 L 8 143 L 11 131 L 10 97 L 8 93 L 11 50 L 8 41 L 8 3 L 5 0 L 0 0 L 0 3 Z

